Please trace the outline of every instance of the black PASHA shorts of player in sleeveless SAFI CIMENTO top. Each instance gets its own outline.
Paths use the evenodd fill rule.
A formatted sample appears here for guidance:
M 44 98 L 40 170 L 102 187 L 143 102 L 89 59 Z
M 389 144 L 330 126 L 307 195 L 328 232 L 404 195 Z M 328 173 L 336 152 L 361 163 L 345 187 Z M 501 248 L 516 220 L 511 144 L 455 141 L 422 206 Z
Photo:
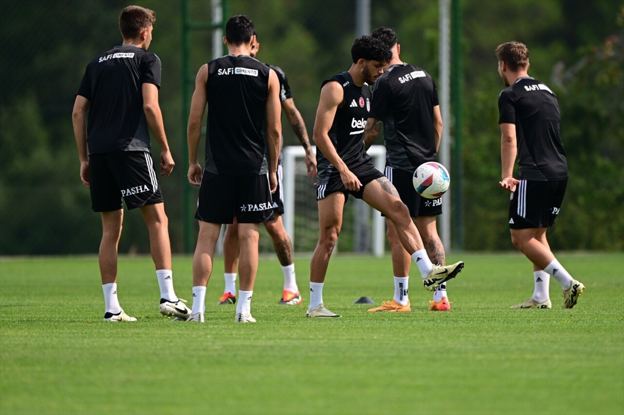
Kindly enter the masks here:
M 195 218 L 203 222 L 260 223 L 273 221 L 268 174 L 230 176 L 203 171 Z

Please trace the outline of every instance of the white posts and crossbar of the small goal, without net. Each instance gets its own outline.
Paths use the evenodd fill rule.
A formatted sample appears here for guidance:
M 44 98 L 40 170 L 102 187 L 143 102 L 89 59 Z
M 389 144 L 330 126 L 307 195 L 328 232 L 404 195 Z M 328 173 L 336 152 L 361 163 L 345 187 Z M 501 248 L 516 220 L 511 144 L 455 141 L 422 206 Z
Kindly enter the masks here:
M 316 154 L 316 146 L 312 146 L 312 151 Z M 371 146 L 367 152 L 373 158 L 375 167 L 383 173 L 386 165 L 386 147 L 382 145 Z M 295 241 L 295 159 L 297 157 L 303 158 L 305 155 L 306 152 L 302 146 L 286 146 L 282 152 L 283 221 L 291 241 Z M 373 229 L 371 232 L 373 255 L 383 257 L 386 248 L 386 220 L 375 209 L 371 208 L 371 211 L 373 212 Z

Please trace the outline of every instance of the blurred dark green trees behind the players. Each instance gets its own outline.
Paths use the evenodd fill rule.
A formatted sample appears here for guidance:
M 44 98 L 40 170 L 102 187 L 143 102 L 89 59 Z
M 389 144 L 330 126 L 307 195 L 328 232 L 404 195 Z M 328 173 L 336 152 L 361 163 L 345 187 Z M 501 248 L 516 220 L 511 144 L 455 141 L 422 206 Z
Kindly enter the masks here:
M 454 0 L 457 1 L 457 0 Z M 461 1 L 461 0 L 460 0 Z M 0 2 L 0 255 L 95 253 L 101 228 L 79 179 L 72 133 L 74 93 L 87 63 L 120 44 L 119 0 Z M 182 251 L 183 153 L 181 4 L 154 9 L 150 50 L 162 59 L 160 104 L 177 162 L 162 179 L 174 252 Z M 497 98 L 504 88 L 495 47 L 529 46 L 529 74 L 557 93 L 570 181 L 550 234 L 557 249 L 624 249 L 624 2 L 617 0 L 463 0 L 462 108 L 467 250 L 512 249 L 509 196 L 499 188 Z M 190 2 L 193 21 L 210 21 L 210 2 Z M 280 65 L 311 135 L 321 81 L 351 64 L 353 0 L 229 0 L 262 43 L 259 58 Z M 371 28 L 393 27 L 402 60 L 439 78 L 437 0 L 372 0 Z M 228 16 L 226 16 L 227 18 Z M 212 57 L 208 32 L 193 32 L 192 76 Z M 453 131 L 452 114 L 442 114 Z M 285 123 L 286 145 L 298 145 Z M 378 142 L 381 144 L 381 141 Z M 158 154 L 154 143 L 154 154 Z M 203 145 L 203 144 L 202 144 Z M 454 174 L 458 174 L 457 172 Z M 120 252 L 149 252 L 138 211 L 127 212 Z

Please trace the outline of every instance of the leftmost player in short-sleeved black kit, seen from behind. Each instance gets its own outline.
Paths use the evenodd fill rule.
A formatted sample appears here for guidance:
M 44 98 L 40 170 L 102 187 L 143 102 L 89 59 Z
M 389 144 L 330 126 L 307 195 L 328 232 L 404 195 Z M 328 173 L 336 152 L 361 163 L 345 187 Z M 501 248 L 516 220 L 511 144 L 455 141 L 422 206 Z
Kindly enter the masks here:
M 149 229 L 160 313 L 176 318 L 190 315 L 185 300 L 173 290 L 167 215 L 150 155 L 148 126 L 160 145 L 160 175 L 168 177 L 175 163 L 158 106 L 160 59 L 147 51 L 155 16 L 154 11 L 139 6 L 121 11 L 123 44 L 89 62 L 72 113 L 80 179 L 90 189 L 92 209 L 102 215 L 99 263 L 105 322 L 137 321 L 124 312 L 117 298 L 122 198 L 128 209 L 139 207 Z

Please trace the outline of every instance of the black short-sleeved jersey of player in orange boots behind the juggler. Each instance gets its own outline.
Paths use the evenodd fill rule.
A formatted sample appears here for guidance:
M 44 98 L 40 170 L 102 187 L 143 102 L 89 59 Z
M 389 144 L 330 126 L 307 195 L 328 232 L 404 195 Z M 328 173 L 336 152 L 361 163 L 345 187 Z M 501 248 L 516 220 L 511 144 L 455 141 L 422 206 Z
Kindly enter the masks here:
M 384 123 L 386 166 L 411 173 L 436 161 L 436 82 L 414 65 L 392 65 L 373 86 L 370 117 Z

